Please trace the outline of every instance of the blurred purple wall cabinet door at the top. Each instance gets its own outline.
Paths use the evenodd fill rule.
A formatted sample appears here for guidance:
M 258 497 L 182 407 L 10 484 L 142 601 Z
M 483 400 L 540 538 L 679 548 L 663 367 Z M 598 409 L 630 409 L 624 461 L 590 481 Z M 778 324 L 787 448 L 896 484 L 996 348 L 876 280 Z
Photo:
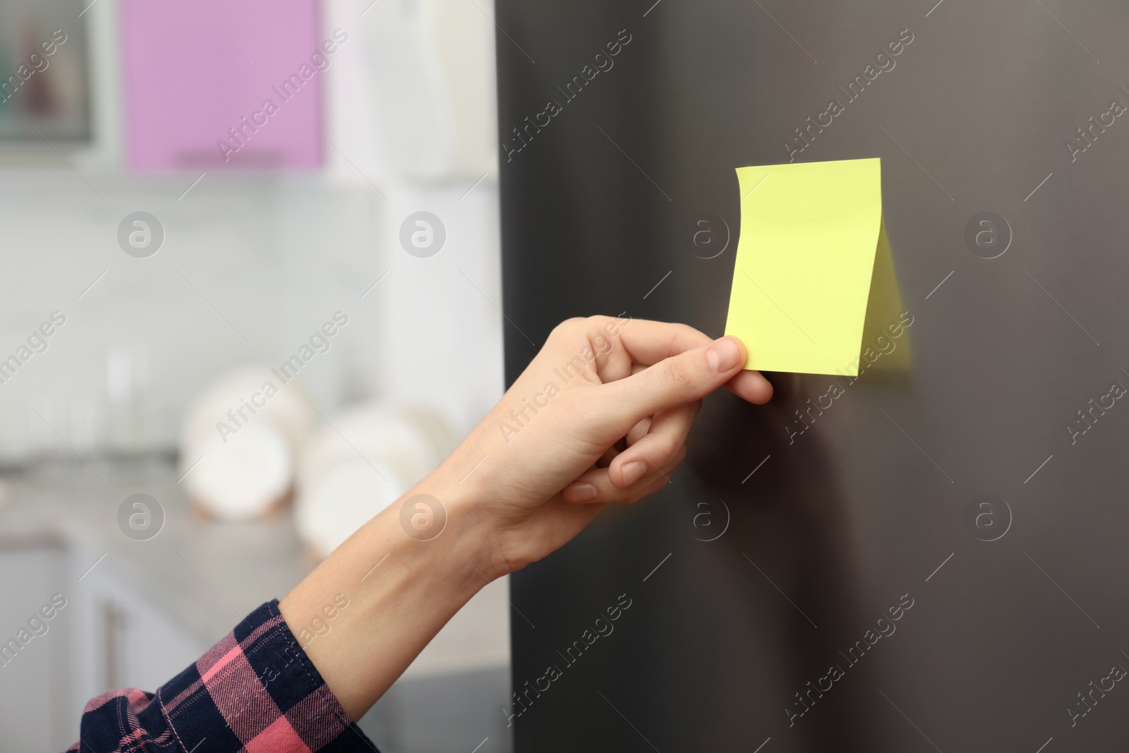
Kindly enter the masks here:
M 317 0 L 122 0 L 137 169 L 314 168 L 322 78 L 348 38 Z

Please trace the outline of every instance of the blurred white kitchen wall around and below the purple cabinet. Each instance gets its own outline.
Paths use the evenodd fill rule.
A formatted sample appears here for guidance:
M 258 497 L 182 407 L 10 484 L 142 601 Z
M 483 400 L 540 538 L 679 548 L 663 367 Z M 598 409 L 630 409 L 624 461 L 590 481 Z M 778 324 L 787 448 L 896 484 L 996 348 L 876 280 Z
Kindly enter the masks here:
M 500 394 L 493 26 L 473 3 L 334 0 L 324 16 L 351 33 L 326 73 L 326 168 L 193 185 L 199 174 L 121 165 L 116 5 L 90 7 L 95 143 L 0 150 L 0 360 L 53 312 L 67 317 L 0 384 L 0 465 L 67 445 L 97 454 L 115 438 L 173 448 L 208 379 L 281 362 L 339 309 L 350 324 L 300 376 L 323 412 L 367 396 L 409 401 L 461 436 Z M 382 46 L 390 35 L 399 59 Z M 397 79 L 428 84 L 391 87 Z M 397 139 L 421 112 L 435 157 L 417 141 L 413 163 Z M 116 242 L 138 210 L 166 231 L 149 259 Z M 399 240 L 419 210 L 446 226 L 430 259 Z M 111 353 L 133 365 L 125 429 L 107 399 Z

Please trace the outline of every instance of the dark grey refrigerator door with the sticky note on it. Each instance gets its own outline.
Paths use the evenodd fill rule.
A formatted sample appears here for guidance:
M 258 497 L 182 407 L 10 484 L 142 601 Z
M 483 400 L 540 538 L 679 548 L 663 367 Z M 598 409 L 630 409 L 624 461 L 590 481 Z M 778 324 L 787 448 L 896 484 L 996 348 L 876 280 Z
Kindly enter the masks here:
M 496 23 L 510 380 L 569 316 L 719 336 L 745 165 L 881 157 L 903 312 L 513 578 L 516 750 L 1126 750 L 1129 6 Z

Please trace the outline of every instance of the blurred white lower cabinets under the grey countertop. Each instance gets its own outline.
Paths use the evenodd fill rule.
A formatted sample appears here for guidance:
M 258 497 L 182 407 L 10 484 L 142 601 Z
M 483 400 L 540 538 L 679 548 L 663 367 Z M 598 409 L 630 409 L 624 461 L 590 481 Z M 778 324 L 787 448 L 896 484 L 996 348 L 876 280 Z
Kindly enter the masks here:
M 0 544 L 0 753 L 67 748 L 89 699 L 152 692 L 209 648 L 100 555 Z

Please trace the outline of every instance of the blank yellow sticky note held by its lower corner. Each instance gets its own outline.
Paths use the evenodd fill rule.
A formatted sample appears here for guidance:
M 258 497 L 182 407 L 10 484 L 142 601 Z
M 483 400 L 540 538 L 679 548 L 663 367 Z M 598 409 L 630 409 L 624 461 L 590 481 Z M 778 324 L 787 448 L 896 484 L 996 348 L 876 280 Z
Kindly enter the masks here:
M 745 368 L 857 375 L 886 238 L 881 161 L 739 167 L 737 181 L 741 239 L 725 333 L 749 348 Z

